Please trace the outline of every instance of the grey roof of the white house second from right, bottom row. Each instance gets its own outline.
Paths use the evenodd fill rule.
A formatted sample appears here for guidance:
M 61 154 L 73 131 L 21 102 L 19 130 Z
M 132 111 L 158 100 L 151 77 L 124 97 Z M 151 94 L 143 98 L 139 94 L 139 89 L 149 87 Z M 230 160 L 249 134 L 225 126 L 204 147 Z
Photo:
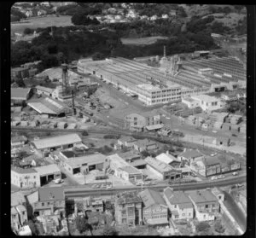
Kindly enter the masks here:
M 169 187 L 164 189 L 164 194 L 166 198 L 172 205 L 183 205 L 187 204 L 188 207 L 193 207 L 191 200 L 189 200 L 188 194 L 183 191 L 172 191 Z

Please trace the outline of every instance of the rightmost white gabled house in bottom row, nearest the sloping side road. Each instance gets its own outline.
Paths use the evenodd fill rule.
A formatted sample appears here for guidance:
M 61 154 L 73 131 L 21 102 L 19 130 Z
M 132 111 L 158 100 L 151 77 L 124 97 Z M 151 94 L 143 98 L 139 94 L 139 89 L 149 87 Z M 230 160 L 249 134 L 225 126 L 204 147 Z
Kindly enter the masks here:
M 199 222 L 214 221 L 219 212 L 219 203 L 211 190 L 198 190 L 186 192 L 195 208 L 195 218 Z

